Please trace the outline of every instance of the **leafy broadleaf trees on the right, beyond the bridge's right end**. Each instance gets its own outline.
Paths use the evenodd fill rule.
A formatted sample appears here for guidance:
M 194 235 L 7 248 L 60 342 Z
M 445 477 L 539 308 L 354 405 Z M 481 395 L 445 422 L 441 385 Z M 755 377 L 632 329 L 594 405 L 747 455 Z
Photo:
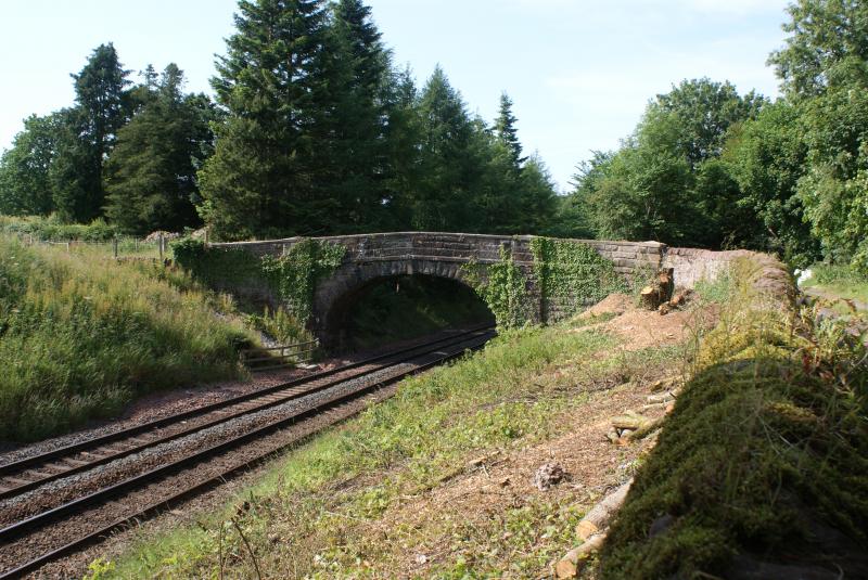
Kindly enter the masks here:
M 674 86 L 618 151 L 582 168 L 559 231 L 868 270 L 868 8 L 799 0 L 787 13 L 769 56 L 781 99 L 707 78 Z

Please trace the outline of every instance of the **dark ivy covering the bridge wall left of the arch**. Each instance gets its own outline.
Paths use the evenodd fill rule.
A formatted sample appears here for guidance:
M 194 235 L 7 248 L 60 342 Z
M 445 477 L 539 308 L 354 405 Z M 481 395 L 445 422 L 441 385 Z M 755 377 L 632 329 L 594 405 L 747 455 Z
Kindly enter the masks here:
M 267 285 L 295 319 L 307 321 L 317 283 L 341 266 L 346 248 L 308 239 L 282 256 L 257 258 L 241 247 L 184 239 L 173 244 L 173 252 L 180 266 L 212 286 Z

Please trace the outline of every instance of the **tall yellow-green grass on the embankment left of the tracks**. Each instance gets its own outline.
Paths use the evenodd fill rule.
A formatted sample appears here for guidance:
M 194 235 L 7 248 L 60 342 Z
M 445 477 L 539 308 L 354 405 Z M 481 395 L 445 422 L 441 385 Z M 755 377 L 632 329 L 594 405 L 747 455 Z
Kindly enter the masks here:
M 0 235 L 0 439 L 113 416 L 143 394 L 241 372 L 255 341 L 181 271 Z

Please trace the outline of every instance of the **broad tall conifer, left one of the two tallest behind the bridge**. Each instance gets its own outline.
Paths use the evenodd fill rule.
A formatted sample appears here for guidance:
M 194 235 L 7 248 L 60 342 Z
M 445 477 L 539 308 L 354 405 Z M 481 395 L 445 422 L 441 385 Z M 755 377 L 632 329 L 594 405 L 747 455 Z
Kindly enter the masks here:
M 212 80 L 228 117 L 200 173 L 201 212 L 218 235 L 315 233 L 334 210 L 315 196 L 324 24 L 321 0 L 239 3 Z

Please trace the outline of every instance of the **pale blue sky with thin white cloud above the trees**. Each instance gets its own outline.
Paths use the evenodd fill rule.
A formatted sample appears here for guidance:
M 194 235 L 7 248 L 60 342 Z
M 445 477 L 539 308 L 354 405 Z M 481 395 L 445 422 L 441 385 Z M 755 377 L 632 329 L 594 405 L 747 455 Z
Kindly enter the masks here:
M 616 149 L 648 101 L 682 79 L 776 96 L 766 66 L 787 0 L 368 0 L 394 61 L 419 86 L 439 64 L 489 123 L 506 91 L 527 153 L 561 191 L 592 151 Z M 0 0 L 0 150 L 22 119 L 73 103 L 69 74 L 114 42 L 138 73 L 177 63 L 210 92 L 237 0 Z M 133 75 L 133 78 L 138 78 Z

